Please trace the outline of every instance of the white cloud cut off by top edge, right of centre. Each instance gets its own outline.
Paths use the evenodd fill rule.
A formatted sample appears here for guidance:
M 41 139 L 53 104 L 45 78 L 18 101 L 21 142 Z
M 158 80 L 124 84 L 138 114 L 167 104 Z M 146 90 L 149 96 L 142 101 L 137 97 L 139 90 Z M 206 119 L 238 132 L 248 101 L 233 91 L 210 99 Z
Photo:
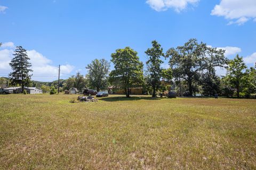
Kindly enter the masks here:
M 147 0 L 147 4 L 150 5 L 156 11 L 166 11 L 168 8 L 173 8 L 176 12 L 185 10 L 189 4 L 196 5 L 200 0 Z

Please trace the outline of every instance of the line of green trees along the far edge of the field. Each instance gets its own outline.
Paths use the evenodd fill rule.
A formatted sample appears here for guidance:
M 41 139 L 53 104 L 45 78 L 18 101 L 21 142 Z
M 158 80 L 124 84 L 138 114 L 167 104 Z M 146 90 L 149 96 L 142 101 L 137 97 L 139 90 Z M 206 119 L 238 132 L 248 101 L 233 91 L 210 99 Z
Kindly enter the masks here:
M 61 90 L 75 87 L 82 91 L 84 87 L 106 90 L 110 84 L 123 89 L 126 97 L 130 97 L 131 88 L 143 87 L 143 91 L 150 92 L 152 97 L 167 87 L 161 80 L 169 82 L 173 90 L 179 94 L 193 96 L 201 93 L 204 96 L 219 94 L 222 96 L 250 97 L 256 94 L 256 63 L 247 68 L 243 57 L 237 55 L 234 60 L 225 57 L 225 50 L 198 43 L 197 39 L 189 39 L 183 46 L 170 48 L 165 53 L 161 45 L 152 41 L 152 46 L 145 51 L 147 61 L 145 65 L 140 61 L 138 53 L 130 48 L 117 49 L 111 54 L 114 69 L 110 71 L 110 62 L 105 59 L 95 59 L 85 68 L 84 76 L 77 73 L 67 80 L 61 81 Z M 31 83 L 29 58 L 26 49 L 18 46 L 10 62 L 13 72 L 9 74 L 10 84 L 20 84 L 22 89 Z M 164 60 L 169 61 L 169 68 L 163 69 Z M 216 74 L 216 67 L 227 70 L 225 76 Z M 57 83 L 58 84 L 58 83 Z M 51 86 L 56 86 L 56 83 Z M 170 86 L 170 85 L 169 85 Z M 43 91 L 49 91 L 49 84 L 41 86 Z

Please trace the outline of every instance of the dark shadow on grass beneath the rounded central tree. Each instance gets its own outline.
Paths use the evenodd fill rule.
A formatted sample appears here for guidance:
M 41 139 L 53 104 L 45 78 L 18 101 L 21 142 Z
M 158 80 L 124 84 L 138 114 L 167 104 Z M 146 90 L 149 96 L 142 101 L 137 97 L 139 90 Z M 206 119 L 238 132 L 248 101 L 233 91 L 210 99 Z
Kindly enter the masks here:
M 160 100 L 161 98 L 142 97 L 142 96 L 131 96 L 129 98 L 123 96 L 101 98 L 103 101 L 133 101 L 133 100 Z

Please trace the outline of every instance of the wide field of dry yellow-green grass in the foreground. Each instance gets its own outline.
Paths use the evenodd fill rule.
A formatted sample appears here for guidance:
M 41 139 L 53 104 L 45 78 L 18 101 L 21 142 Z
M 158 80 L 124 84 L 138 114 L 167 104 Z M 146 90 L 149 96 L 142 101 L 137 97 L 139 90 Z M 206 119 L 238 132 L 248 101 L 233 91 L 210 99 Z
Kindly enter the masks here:
M 1 95 L 0 169 L 256 169 L 256 100 Z

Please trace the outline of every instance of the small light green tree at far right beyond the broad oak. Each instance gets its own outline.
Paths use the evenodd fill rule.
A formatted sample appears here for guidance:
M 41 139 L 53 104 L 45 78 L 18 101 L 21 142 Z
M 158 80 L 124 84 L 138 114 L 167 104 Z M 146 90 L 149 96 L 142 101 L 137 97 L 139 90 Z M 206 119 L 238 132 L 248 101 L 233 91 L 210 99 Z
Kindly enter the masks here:
M 245 80 L 245 69 L 246 65 L 243 61 L 243 57 L 239 57 L 239 55 L 237 55 L 234 60 L 230 60 L 227 66 L 225 81 L 228 86 L 236 89 L 237 97 L 239 97 L 239 92 Z

